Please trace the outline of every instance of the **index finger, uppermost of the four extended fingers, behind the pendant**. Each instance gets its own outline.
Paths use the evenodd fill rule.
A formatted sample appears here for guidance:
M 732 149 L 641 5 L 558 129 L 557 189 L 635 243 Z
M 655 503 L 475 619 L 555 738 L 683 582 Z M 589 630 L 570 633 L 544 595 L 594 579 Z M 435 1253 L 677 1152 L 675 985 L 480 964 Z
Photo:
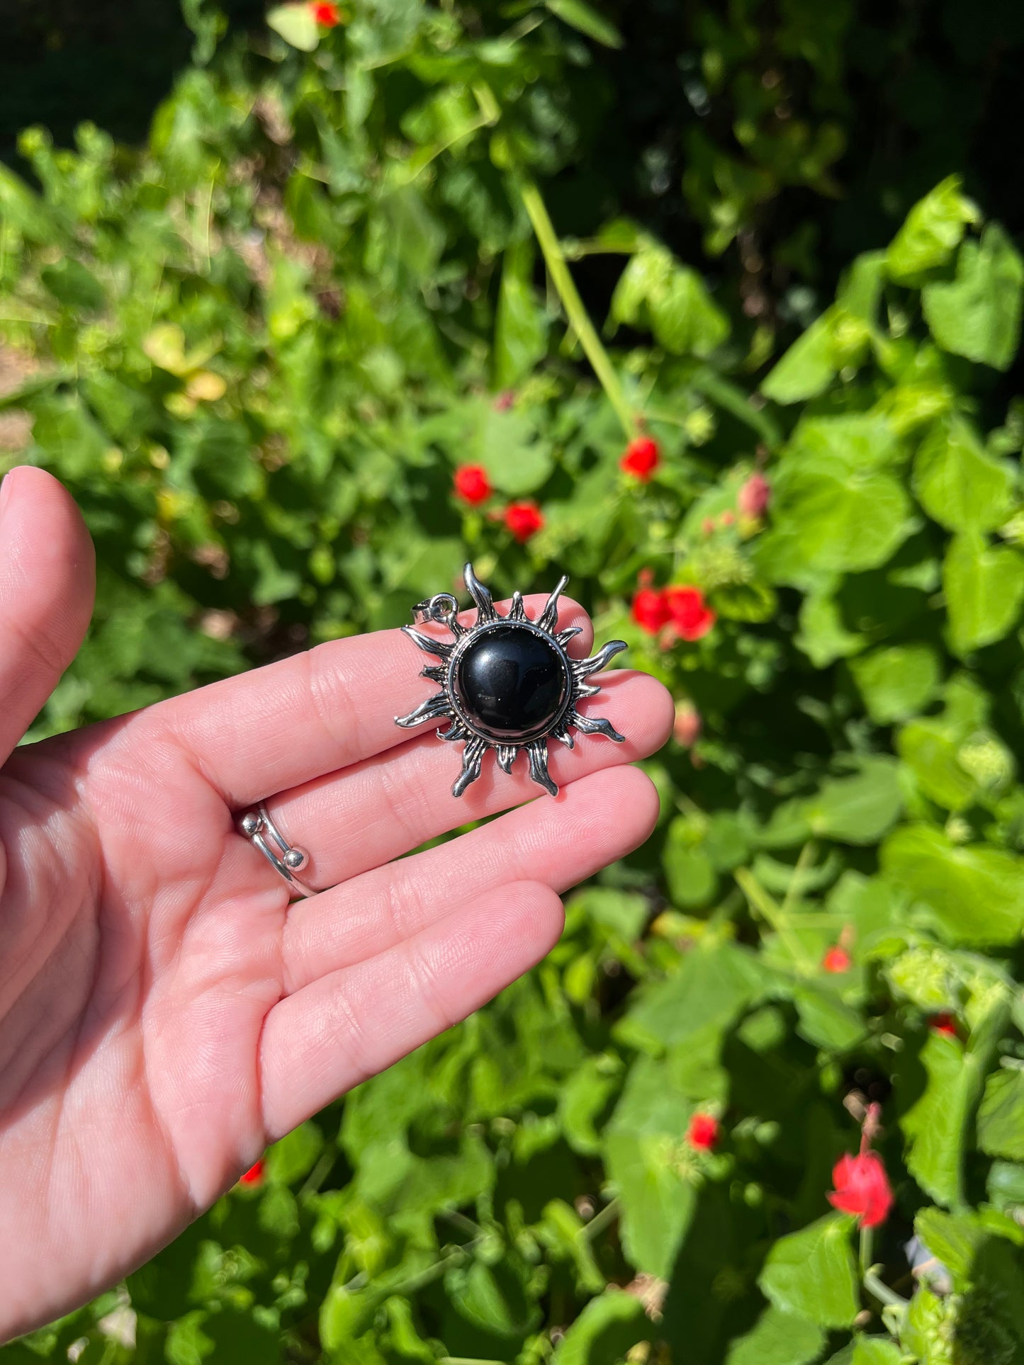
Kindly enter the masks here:
M 531 617 L 547 599 L 526 599 Z M 467 624 L 472 613 L 466 613 Z M 558 629 L 576 625 L 569 652 L 586 654 L 594 632 L 583 607 L 563 598 Z M 419 627 L 422 633 L 444 632 Z M 408 738 L 395 723 L 436 685 L 419 676 L 425 655 L 400 631 L 332 640 L 306 654 L 213 682 L 152 707 L 235 809 L 268 793 L 333 773 Z

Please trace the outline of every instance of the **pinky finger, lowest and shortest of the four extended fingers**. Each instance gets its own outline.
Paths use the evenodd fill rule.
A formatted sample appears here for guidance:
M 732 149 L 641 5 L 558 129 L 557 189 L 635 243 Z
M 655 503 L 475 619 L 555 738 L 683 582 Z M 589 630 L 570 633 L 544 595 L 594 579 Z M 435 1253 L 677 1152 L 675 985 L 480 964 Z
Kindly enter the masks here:
M 561 927 L 550 887 L 502 886 L 283 999 L 266 1016 L 258 1059 L 269 1140 L 479 1009 L 538 962 Z

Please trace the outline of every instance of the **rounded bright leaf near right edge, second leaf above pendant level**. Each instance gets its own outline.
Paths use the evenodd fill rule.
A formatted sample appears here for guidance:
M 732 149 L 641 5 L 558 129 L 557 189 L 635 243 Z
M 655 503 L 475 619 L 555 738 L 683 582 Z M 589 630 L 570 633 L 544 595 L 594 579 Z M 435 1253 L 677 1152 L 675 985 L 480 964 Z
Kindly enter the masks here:
M 987 455 L 963 418 L 937 422 L 913 461 L 913 491 L 949 531 L 993 531 L 1013 509 L 1013 470 Z

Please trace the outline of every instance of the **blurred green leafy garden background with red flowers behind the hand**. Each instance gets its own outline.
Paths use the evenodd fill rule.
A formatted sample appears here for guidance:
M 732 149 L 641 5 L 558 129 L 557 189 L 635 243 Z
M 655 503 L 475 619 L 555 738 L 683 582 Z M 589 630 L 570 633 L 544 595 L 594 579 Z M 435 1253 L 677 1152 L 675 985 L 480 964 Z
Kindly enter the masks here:
M 677 725 L 541 966 L 0 1358 L 1024 1361 L 1024 11 L 8 11 L 0 456 L 100 564 L 31 737 L 467 557 Z

